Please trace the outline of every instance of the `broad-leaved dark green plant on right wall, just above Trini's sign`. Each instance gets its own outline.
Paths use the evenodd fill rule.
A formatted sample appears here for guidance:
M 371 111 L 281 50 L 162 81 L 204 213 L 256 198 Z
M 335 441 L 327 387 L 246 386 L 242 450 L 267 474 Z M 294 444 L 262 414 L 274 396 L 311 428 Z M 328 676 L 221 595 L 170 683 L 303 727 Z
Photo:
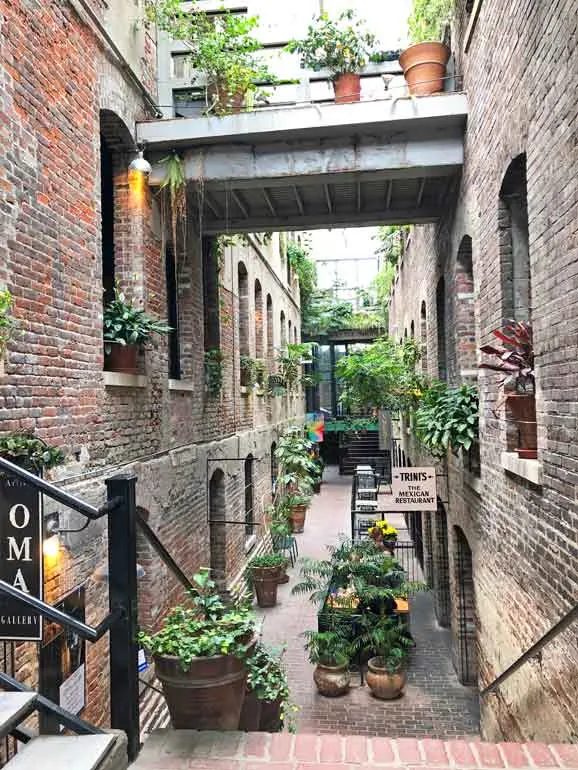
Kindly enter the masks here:
M 466 451 L 478 436 L 479 397 L 473 385 L 448 388 L 442 382 L 424 393 L 415 414 L 416 435 L 436 457 L 448 448 Z

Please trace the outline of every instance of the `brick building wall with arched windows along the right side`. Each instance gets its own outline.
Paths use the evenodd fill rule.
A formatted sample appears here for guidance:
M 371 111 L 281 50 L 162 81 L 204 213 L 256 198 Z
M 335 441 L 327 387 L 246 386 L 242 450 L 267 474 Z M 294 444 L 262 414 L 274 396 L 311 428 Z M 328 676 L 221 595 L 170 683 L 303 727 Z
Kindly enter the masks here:
M 477 383 L 480 462 L 448 455 L 449 490 L 424 514 L 426 568 L 454 662 L 481 689 L 576 603 L 576 7 L 458 3 L 452 39 L 468 94 L 465 163 L 447 215 L 415 227 L 391 299 L 390 332 L 423 343 L 422 365 Z M 515 318 L 536 353 L 538 458 L 519 460 L 500 377 L 480 345 Z M 413 465 L 430 464 L 404 432 Z M 443 469 L 442 469 L 443 470 Z M 484 737 L 572 741 L 575 631 L 560 633 L 482 698 Z

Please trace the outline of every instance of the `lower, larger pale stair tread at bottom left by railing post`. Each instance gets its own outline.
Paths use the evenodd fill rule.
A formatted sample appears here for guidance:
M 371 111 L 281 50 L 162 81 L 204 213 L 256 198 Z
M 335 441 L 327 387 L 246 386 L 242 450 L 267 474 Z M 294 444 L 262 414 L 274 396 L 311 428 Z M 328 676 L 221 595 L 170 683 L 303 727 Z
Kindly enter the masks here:
M 126 739 L 118 734 L 34 738 L 6 770 L 126 770 Z

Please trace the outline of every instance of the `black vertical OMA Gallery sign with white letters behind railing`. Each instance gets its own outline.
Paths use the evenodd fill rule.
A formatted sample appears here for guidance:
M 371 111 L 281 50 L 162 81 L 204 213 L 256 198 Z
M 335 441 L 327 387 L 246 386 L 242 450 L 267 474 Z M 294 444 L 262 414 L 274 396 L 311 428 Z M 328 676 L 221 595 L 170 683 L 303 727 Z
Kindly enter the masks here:
M 42 599 L 42 504 L 37 489 L 0 474 L 0 579 Z M 0 594 L 0 639 L 40 641 L 42 616 Z

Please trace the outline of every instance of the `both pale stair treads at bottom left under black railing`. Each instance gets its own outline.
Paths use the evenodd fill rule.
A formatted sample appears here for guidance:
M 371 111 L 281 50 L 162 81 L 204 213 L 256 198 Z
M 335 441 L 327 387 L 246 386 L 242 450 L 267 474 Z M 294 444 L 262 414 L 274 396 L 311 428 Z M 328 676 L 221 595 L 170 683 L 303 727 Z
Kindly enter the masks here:
M 33 737 L 22 723 L 40 705 L 34 692 L 0 692 L 0 740 L 12 735 L 26 741 L 4 765 L 6 770 L 126 770 L 123 733 L 98 731 L 92 735 Z

